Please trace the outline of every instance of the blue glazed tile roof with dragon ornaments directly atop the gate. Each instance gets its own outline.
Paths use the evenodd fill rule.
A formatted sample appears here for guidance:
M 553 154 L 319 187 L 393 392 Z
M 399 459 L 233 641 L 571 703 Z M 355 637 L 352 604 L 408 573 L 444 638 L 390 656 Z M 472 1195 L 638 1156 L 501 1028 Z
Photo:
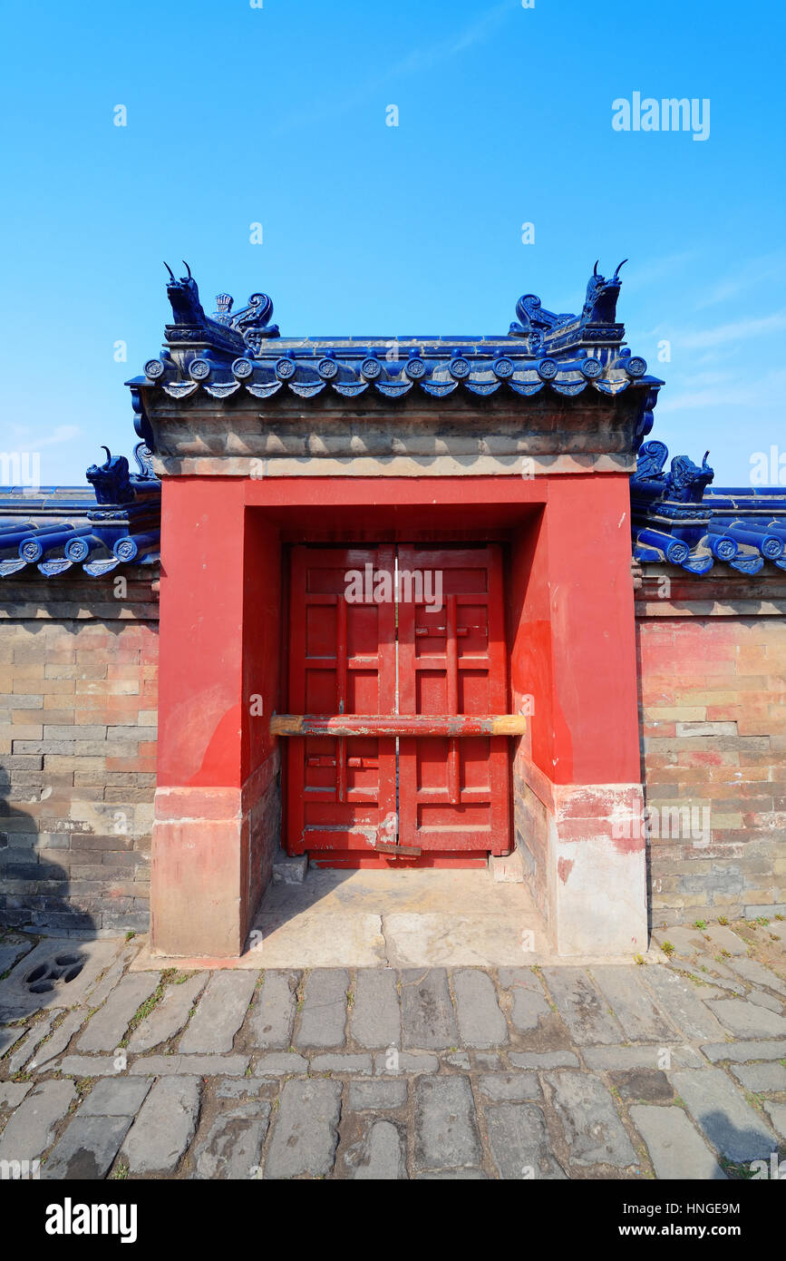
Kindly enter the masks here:
M 484 396 L 513 391 L 529 397 L 547 390 L 574 397 L 587 390 L 613 396 L 632 386 L 651 391 L 651 411 L 663 385 L 624 346 L 625 328 L 616 322 L 620 267 L 606 279 L 596 264 L 578 315 L 558 315 L 525 294 L 508 333 L 493 337 L 306 338 L 280 335 L 265 294 L 253 294 L 236 315 L 233 299 L 222 293 L 217 313 L 205 315 L 186 270 L 180 280 L 170 271 L 166 290 L 174 323 L 166 327 L 160 357 L 147 361 L 144 377 L 128 382 L 136 395 L 140 386 L 157 386 L 171 398 L 200 390 L 214 398 L 242 391 L 266 398 L 280 390 L 301 398 L 325 392 L 355 397 L 367 391 L 388 398 L 418 391 L 442 398 L 457 388 Z

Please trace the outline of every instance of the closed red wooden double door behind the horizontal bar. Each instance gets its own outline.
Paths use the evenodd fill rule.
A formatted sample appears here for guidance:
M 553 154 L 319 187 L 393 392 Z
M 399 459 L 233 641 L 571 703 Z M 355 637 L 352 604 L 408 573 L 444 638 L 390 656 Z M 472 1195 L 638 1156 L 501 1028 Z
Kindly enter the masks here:
M 509 736 L 446 731 L 506 710 L 500 547 L 295 547 L 291 575 L 290 712 L 411 716 L 430 734 L 292 736 L 288 851 L 341 866 L 387 865 L 390 842 L 419 865 L 506 854 Z

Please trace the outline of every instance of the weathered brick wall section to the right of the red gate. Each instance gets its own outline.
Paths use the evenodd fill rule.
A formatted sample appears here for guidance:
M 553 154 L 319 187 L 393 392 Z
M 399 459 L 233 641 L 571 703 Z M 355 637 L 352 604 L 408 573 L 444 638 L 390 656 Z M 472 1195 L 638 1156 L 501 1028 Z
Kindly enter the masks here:
M 654 822 L 673 807 L 683 825 L 650 836 L 655 927 L 786 913 L 786 579 L 776 574 L 644 569 L 642 779 Z

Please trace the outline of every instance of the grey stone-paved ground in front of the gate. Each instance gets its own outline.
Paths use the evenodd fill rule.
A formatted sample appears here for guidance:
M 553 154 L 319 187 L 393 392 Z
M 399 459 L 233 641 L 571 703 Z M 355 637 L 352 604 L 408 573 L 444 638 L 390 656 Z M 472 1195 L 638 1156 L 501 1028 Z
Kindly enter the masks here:
M 639 966 L 161 973 L 128 971 L 136 941 L 6 934 L 0 1171 L 19 1161 L 24 1177 L 25 1160 L 55 1179 L 771 1168 L 786 1139 L 786 921 L 656 939 L 670 942 L 663 963 Z

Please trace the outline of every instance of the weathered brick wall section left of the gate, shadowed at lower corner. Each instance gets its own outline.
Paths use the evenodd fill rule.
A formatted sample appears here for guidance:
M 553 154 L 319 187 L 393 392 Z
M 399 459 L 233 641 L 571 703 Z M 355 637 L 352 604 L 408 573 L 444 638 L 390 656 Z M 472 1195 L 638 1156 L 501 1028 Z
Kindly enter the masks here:
M 157 570 L 6 583 L 0 605 L 0 923 L 145 931 Z

